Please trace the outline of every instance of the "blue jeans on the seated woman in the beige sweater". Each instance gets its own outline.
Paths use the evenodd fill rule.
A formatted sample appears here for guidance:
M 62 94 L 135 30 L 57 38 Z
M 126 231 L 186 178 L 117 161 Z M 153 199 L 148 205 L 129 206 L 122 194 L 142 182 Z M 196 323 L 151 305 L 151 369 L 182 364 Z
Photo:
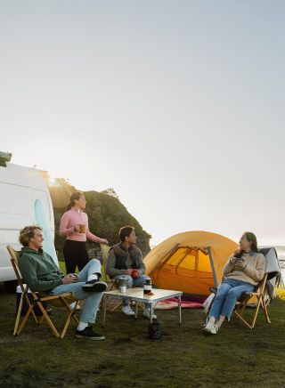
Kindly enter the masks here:
M 217 289 L 216 297 L 212 304 L 209 317 L 219 319 L 224 315 L 230 320 L 235 303 L 244 292 L 252 292 L 255 289 L 250 283 L 235 279 L 225 279 Z

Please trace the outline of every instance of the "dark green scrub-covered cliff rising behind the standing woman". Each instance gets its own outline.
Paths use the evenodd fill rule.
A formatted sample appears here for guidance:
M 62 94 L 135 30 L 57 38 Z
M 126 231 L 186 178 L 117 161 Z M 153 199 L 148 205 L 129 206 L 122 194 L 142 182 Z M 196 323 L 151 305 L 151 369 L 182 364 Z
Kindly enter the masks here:
M 151 235 L 142 229 L 142 226 L 129 214 L 126 207 L 119 201 L 114 190 L 85 191 L 85 198 L 87 200 L 86 214 L 89 218 L 89 229 L 96 236 L 107 238 L 110 245 L 119 242 L 118 230 L 122 226 L 134 226 L 138 240 L 137 245 L 142 249 L 143 255 L 146 255 L 150 250 Z M 65 207 L 53 207 L 54 222 L 55 222 L 55 248 L 59 252 L 61 258 L 64 238 L 59 235 L 59 227 L 61 222 L 61 215 L 64 213 Z M 98 247 L 99 245 L 87 242 L 87 249 Z

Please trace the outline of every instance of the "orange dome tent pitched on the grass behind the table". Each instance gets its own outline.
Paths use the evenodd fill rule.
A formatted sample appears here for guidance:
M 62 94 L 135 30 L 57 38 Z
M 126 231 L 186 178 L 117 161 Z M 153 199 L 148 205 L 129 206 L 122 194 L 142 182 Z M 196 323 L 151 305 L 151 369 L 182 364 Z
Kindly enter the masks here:
M 208 288 L 221 282 L 224 264 L 237 247 L 216 233 L 185 231 L 154 247 L 143 262 L 157 287 L 208 295 Z

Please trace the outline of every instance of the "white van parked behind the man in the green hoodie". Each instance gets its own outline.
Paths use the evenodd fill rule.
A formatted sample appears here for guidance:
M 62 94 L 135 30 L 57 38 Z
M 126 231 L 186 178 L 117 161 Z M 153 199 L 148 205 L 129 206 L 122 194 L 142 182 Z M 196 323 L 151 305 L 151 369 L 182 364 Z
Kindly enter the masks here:
M 11 163 L 0 166 L 0 281 L 15 279 L 6 246 L 20 249 L 19 232 L 31 224 L 43 227 L 44 249 L 58 263 L 53 246 L 53 205 L 45 173 Z

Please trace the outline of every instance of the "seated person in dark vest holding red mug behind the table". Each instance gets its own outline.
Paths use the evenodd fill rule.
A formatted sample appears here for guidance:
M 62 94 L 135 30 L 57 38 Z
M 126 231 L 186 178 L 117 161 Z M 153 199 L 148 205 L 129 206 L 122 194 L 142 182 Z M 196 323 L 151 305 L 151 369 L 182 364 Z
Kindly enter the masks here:
M 145 279 L 148 276 L 144 275 L 145 265 L 142 262 L 142 251 L 136 247 L 137 237 L 134 228 L 124 226 L 118 232 L 120 243 L 110 248 L 106 272 L 111 279 L 121 278 L 123 275 L 127 279 L 127 288 L 143 287 Z M 132 278 L 132 272 L 137 270 L 136 277 Z M 122 312 L 126 315 L 134 315 L 134 311 L 130 307 L 130 301 L 123 298 Z M 145 309 L 142 315 L 151 319 L 151 308 L 149 303 L 145 303 Z M 152 319 L 157 317 L 152 314 Z

